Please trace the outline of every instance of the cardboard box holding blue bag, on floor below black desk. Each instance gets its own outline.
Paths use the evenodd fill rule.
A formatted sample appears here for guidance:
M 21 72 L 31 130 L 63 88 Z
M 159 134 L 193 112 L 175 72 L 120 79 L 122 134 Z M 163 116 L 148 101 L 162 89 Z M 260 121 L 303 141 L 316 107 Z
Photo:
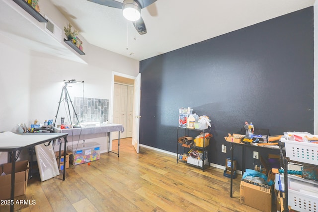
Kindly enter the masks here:
M 240 181 L 240 203 L 243 203 L 262 212 L 271 212 L 272 195 L 271 187 L 264 184 L 252 184 Z

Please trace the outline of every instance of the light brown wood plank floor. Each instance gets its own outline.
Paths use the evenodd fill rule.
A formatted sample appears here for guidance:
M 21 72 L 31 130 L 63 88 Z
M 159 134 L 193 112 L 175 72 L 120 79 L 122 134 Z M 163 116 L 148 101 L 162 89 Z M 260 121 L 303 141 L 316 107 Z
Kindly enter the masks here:
M 223 171 L 176 163 L 176 156 L 141 147 L 137 154 L 131 138 L 121 139 L 120 157 L 102 153 L 90 165 L 70 166 L 63 175 L 28 181 L 26 195 L 18 200 L 34 205 L 15 205 L 19 212 L 258 212 L 239 202 L 239 180 Z M 114 141 L 113 146 L 117 145 Z M 9 206 L 0 206 L 8 212 Z

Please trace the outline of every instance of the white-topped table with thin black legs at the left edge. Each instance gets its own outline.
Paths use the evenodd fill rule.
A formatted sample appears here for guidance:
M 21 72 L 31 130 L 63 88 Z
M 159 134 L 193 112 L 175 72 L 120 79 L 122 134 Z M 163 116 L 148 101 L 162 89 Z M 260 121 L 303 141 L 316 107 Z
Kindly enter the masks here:
M 64 147 L 68 136 L 67 133 L 23 133 L 14 134 L 11 132 L 0 133 L 0 151 L 6 151 L 11 157 L 11 197 L 10 200 L 14 202 L 14 182 L 15 182 L 15 162 L 16 152 L 25 148 L 33 147 L 41 143 L 54 141 L 56 139 L 64 138 Z M 62 142 L 60 143 L 61 146 Z M 61 149 L 61 147 L 60 147 Z M 61 156 L 61 151 L 59 153 Z M 64 158 L 66 158 L 66 151 L 64 151 Z M 63 170 L 63 180 L 65 180 L 65 160 Z M 14 211 L 14 204 L 10 205 L 10 212 Z

